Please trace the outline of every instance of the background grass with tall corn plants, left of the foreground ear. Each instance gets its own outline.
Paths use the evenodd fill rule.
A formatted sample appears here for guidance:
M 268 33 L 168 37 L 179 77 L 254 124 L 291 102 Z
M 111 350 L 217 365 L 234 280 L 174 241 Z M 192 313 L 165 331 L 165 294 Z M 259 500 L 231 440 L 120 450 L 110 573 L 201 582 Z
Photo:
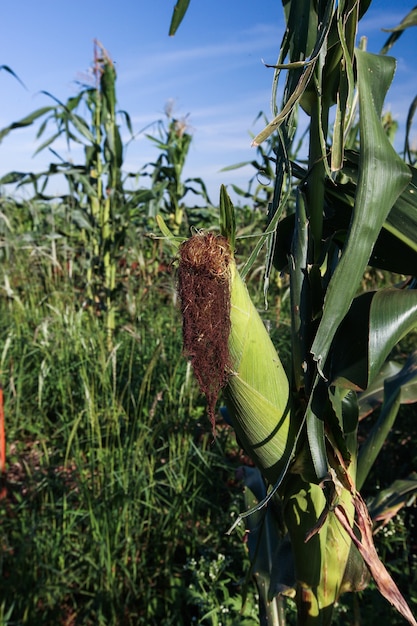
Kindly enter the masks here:
M 162 160 L 143 168 L 153 188 L 125 186 L 116 76 L 98 42 L 93 75 L 1 131 L 41 121 L 40 137 L 53 125 L 38 150 L 62 135 L 85 163 L 0 181 L 0 623 L 253 624 L 251 586 L 241 614 L 243 535 L 224 535 L 241 508 L 238 448 L 201 419 L 171 258 L 146 237 L 154 200 L 163 212 L 181 200 L 185 227 L 184 195 L 207 197 L 202 181 L 181 180 L 191 135 L 170 118 Z M 56 174 L 68 193 L 49 198 Z M 6 195 L 9 183 L 31 199 Z

